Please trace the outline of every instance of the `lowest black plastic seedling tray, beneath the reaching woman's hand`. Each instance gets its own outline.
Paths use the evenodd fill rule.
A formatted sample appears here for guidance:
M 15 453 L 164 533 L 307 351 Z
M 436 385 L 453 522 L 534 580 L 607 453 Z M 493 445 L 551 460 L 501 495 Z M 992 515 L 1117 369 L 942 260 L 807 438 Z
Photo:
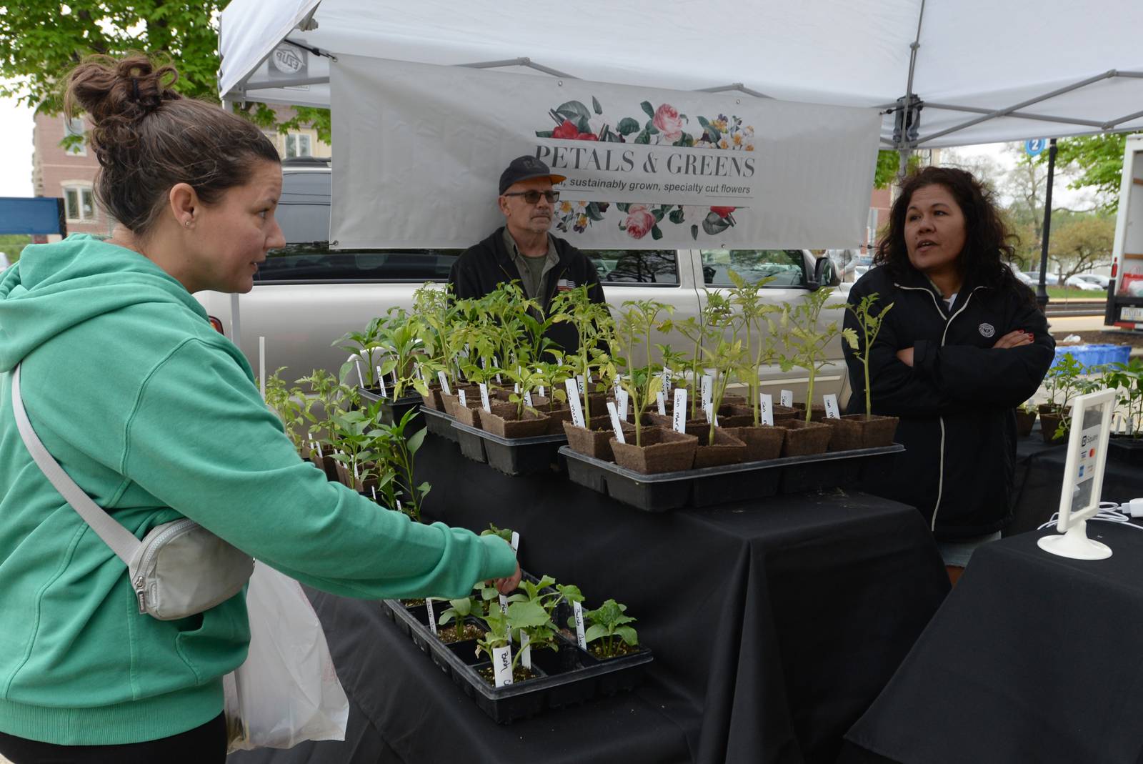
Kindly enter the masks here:
M 477 673 L 487 664 L 487 660 L 474 655 L 475 640 L 445 644 L 438 639 L 429 630 L 424 605 L 406 607 L 400 600 L 385 599 L 382 607 L 414 644 L 429 654 L 438 668 L 448 674 L 497 724 L 510 724 L 547 709 L 629 691 L 640 682 L 654 658 L 649 650 L 641 647 L 628 655 L 600 660 L 580 650 L 572 639 L 557 635 L 558 652 L 531 651 L 536 678 L 494 687 Z

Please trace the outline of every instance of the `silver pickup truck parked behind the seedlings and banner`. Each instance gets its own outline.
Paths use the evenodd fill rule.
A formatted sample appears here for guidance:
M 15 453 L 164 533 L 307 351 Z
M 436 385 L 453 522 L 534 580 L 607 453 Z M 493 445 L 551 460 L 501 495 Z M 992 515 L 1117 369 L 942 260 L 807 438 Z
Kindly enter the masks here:
M 239 329 L 234 337 L 231 305 L 233 295 L 200 292 L 195 296 L 217 319 L 223 333 L 238 345 L 257 369 L 258 337 L 265 337 L 266 368 L 288 368 L 287 380 L 314 368 L 336 372 L 349 353 L 334 341 L 350 331 L 360 331 L 376 316 L 393 307 L 411 309 L 413 292 L 426 281 L 443 285 L 459 250 L 367 249 L 330 252 L 328 161 L 288 161 L 282 167 L 282 197 L 278 221 L 286 247 L 270 253 L 258 269 L 254 289 L 237 297 Z M 487 236 L 473 231 L 472 240 Z M 828 260 L 816 260 L 805 249 L 608 249 L 585 250 L 599 270 L 607 302 L 620 308 L 629 300 L 657 300 L 674 308 L 676 319 L 700 316 L 708 292 L 730 286 L 729 270 L 748 281 L 773 276 L 761 287 L 775 304 L 798 303 L 818 279 L 836 279 Z M 823 278 L 824 277 L 824 278 Z M 839 296 L 842 297 L 841 294 Z M 841 321 L 841 310 L 828 310 L 822 321 Z M 677 349 L 687 349 L 681 334 L 656 339 Z M 847 388 L 840 342 L 829 348 L 829 366 L 817 377 L 815 393 L 844 393 Z M 780 389 L 805 393 L 806 376 L 777 366 L 764 371 L 767 391 L 775 399 Z M 815 395 L 816 397 L 816 395 Z

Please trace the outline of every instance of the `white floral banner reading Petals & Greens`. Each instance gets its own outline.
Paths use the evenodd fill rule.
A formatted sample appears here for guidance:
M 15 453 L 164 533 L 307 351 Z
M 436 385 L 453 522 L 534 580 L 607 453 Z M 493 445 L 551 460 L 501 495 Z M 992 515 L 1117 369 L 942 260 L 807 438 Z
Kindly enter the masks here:
M 350 55 L 331 87 L 337 248 L 475 244 L 521 154 L 567 176 L 552 232 L 581 248 L 864 239 L 876 110 Z

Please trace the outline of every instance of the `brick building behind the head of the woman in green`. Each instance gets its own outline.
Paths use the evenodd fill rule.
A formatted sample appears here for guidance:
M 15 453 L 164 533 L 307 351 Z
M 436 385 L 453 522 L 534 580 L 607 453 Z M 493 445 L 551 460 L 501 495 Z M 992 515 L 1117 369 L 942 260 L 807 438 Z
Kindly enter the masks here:
M 275 106 L 279 119 L 287 119 L 289 106 Z M 83 135 L 90 127 L 82 117 L 67 119 L 62 114 L 35 116 L 32 128 L 32 193 L 37 197 L 57 197 L 64 200 L 69 233 L 111 232 L 114 222 L 95 202 L 93 182 L 99 162 L 90 146 L 72 148 L 61 145 L 66 135 Z M 312 128 L 290 132 L 286 135 L 266 130 L 269 137 L 283 158 L 329 157 L 329 145 L 318 140 Z

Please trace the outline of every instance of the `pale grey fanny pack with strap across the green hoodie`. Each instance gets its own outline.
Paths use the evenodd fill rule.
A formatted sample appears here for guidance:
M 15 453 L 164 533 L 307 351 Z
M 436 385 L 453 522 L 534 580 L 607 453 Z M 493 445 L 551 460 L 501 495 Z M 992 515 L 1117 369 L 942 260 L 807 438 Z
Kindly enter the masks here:
M 19 366 L 11 373 L 11 408 L 32 459 L 72 509 L 127 565 L 139 613 L 171 621 L 210 610 L 246 586 L 254 559 L 194 520 L 158 525 L 143 541 L 91 501 L 43 447 L 19 395 Z

